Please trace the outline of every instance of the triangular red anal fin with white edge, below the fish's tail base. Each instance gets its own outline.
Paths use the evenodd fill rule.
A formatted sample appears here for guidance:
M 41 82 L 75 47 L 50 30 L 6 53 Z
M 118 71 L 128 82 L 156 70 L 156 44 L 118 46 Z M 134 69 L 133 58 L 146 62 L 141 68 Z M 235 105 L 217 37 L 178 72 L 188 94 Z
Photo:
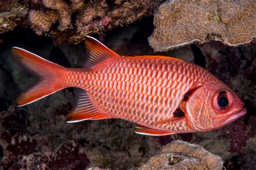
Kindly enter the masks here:
M 99 120 L 113 118 L 111 115 L 100 112 L 91 102 L 86 91 L 79 89 L 75 96 L 75 105 L 66 117 L 68 123 L 75 123 L 85 120 Z

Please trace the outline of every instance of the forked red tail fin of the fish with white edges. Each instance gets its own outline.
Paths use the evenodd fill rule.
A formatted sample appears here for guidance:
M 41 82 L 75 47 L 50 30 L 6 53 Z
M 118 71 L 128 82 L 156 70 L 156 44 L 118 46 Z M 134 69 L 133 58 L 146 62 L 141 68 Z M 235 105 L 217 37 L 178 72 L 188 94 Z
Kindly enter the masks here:
M 64 69 L 64 67 L 22 48 L 12 47 L 12 54 L 14 54 L 19 65 L 39 78 L 32 87 L 26 89 L 17 97 L 17 106 L 21 107 L 35 102 L 65 88 L 58 80 L 58 70 Z

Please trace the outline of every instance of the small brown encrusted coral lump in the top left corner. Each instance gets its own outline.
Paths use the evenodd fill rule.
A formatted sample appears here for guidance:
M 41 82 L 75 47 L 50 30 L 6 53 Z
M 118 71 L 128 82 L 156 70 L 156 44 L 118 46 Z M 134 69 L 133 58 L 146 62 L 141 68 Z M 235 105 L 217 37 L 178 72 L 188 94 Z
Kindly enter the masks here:
M 0 33 L 11 31 L 22 25 L 28 8 L 16 1 L 0 1 Z

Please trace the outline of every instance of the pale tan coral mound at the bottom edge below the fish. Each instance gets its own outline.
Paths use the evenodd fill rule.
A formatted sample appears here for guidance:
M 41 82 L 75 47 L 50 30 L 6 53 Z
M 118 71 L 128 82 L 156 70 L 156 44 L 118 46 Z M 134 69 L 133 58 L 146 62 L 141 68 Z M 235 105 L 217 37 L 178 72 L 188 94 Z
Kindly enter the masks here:
M 138 169 L 222 169 L 223 163 L 218 155 L 206 151 L 203 146 L 174 140 Z

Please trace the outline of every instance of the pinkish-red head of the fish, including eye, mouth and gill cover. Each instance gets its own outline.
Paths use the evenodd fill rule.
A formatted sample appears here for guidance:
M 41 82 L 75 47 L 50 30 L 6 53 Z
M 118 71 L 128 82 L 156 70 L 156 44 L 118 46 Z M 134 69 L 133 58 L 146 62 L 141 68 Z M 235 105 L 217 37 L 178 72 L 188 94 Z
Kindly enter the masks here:
M 195 131 L 219 129 L 246 114 L 244 103 L 219 80 L 204 82 L 185 107 L 189 125 Z

